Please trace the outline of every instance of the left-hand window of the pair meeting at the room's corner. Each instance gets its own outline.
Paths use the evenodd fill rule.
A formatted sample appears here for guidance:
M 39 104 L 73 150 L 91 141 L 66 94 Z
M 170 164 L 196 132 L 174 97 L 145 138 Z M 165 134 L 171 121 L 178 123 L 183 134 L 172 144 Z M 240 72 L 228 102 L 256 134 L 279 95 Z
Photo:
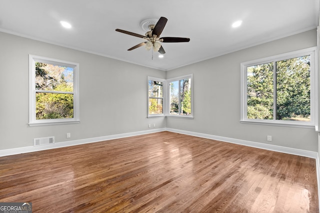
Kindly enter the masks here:
M 148 117 L 163 116 L 164 79 L 148 78 Z

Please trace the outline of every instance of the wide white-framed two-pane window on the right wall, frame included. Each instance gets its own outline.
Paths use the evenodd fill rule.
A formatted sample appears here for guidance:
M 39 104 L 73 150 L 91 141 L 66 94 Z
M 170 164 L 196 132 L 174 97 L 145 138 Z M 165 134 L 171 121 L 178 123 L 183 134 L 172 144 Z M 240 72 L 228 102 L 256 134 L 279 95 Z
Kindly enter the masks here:
M 241 63 L 241 122 L 313 128 L 315 48 Z

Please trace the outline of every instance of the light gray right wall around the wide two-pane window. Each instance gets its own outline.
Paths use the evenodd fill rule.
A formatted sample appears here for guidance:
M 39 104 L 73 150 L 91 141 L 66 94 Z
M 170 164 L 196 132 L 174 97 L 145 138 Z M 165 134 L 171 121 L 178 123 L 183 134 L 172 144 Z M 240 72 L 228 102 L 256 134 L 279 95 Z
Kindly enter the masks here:
M 167 118 L 166 127 L 317 152 L 314 129 L 239 123 L 240 63 L 316 46 L 316 36 L 310 30 L 168 71 L 167 78 L 193 73 L 194 119 Z

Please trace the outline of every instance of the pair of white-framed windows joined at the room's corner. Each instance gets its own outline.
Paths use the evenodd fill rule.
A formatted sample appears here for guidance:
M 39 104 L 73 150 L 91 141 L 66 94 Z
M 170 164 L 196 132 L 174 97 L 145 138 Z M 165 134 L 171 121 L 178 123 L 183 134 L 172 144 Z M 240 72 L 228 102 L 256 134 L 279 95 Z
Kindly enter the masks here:
M 148 77 L 148 117 L 193 118 L 192 75 L 168 80 Z

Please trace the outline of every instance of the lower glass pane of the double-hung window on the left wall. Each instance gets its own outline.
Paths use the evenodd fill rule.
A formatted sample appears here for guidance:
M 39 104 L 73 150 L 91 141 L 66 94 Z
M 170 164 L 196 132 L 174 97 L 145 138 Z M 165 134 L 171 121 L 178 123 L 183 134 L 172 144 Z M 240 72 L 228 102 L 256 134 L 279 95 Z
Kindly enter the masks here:
M 36 119 L 73 118 L 73 94 L 36 92 Z

